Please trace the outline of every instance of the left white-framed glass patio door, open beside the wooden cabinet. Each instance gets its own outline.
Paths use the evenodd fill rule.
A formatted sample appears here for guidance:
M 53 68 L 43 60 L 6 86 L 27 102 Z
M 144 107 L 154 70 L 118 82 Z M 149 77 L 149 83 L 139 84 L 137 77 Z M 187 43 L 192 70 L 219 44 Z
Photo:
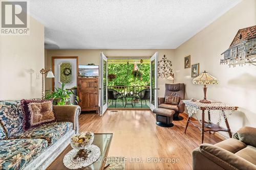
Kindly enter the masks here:
M 108 109 L 108 58 L 100 52 L 100 87 L 99 87 L 99 115 Z

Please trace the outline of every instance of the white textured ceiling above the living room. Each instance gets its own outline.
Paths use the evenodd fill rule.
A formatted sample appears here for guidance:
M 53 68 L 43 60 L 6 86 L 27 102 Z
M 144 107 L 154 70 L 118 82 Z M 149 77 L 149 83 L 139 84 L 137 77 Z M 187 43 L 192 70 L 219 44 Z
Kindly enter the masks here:
M 31 0 L 30 14 L 49 49 L 173 49 L 240 1 Z

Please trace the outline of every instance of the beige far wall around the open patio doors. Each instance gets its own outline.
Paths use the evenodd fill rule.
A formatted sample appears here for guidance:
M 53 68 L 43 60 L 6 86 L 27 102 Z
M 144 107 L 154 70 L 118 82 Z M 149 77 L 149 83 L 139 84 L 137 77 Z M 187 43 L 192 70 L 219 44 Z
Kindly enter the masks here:
M 48 50 L 47 51 L 47 68 L 51 67 L 51 57 L 53 56 L 78 56 L 78 64 L 94 63 L 100 65 L 100 52 L 109 57 L 149 57 L 158 52 L 158 59 L 161 59 L 165 54 L 166 57 L 173 61 L 174 50 Z M 172 83 L 167 79 L 158 79 L 160 88 L 158 96 L 164 96 L 164 84 Z M 51 89 L 51 80 L 46 80 L 46 90 Z

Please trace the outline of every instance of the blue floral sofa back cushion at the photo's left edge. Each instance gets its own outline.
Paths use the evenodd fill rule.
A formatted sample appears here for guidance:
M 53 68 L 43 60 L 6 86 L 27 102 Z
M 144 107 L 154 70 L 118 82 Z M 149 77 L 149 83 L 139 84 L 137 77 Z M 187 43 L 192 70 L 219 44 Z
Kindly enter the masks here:
M 0 122 L 8 138 L 23 132 L 23 120 L 20 101 L 0 101 Z

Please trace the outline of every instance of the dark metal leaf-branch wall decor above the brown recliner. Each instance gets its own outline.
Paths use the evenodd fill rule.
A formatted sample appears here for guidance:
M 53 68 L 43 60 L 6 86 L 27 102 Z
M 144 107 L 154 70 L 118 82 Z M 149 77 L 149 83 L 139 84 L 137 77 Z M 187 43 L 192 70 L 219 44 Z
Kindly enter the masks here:
M 169 76 L 173 75 L 173 69 L 170 68 L 172 66 L 172 61 L 167 60 L 166 56 L 163 55 L 163 58 L 157 62 L 157 70 L 158 76 L 157 78 L 168 78 Z

